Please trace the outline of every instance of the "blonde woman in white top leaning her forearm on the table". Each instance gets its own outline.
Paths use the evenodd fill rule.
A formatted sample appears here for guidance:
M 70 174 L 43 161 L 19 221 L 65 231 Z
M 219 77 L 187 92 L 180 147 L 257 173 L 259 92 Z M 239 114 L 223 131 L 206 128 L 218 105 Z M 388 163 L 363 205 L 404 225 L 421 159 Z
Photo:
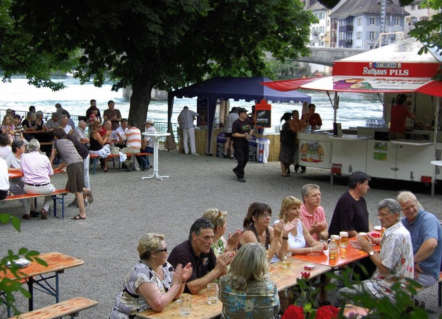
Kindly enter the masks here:
M 301 205 L 302 202 L 294 196 L 284 197 L 278 215 L 279 219 L 276 220 L 275 224 L 279 223 L 281 220 L 285 223 L 295 223 L 296 226 L 288 234 L 289 249 L 287 249 L 291 251 L 293 255 L 307 255 L 308 253 L 322 252 L 323 244 L 311 237 L 309 230 L 301 220 Z M 280 242 L 282 244 L 281 239 Z M 273 256 L 271 262 L 278 261 L 280 261 L 280 258 L 278 258 L 278 256 Z

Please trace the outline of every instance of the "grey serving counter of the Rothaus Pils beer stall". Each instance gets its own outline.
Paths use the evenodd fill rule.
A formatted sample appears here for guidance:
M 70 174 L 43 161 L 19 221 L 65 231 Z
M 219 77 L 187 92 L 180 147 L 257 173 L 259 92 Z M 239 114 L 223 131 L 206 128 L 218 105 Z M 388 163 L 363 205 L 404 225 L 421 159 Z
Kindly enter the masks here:
M 414 139 L 385 140 L 387 128 L 359 128 L 356 134 L 334 137 L 332 132 L 298 133 L 300 164 L 331 169 L 333 174 L 363 171 L 372 177 L 431 182 L 432 160 L 442 152 L 442 143 L 432 142 L 430 131 L 410 131 Z M 376 138 L 377 137 L 377 138 Z M 434 135 L 432 135 L 434 137 Z M 439 140 L 439 135 L 437 135 Z M 441 179 L 436 170 L 436 179 Z

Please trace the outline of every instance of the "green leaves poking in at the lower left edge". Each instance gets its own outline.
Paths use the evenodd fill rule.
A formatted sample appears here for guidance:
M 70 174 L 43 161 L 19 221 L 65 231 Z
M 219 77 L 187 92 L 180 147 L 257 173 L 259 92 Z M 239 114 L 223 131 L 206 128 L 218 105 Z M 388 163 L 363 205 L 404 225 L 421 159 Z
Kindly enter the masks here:
M 1 224 L 7 224 L 10 222 L 17 231 L 20 231 L 20 220 L 15 216 L 2 213 L 0 214 L 0 222 Z M 48 266 L 44 260 L 37 257 L 39 254 L 40 253 L 38 251 L 30 251 L 26 248 L 19 249 L 17 253 L 8 250 L 8 255 L 4 256 L 0 260 L 0 273 L 2 277 L 6 275 L 7 271 L 10 271 L 15 278 L 20 278 L 20 268 L 17 267 L 13 262 L 19 258 L 26 258 L 27 260 Z M 6 266 L 9 263 L 10 266 Z M 11 307 L 12 311 L 16 314 L 18 311 L 14 305 L 15 297 L 13 293 L 17 291 L 19 291 L 26 298 L 30 298 L 30 293 L 23 287 L 23 283 L 20 280 L 11 280 L 5 277 L 0 280 L 0 305 L 3 304 Z

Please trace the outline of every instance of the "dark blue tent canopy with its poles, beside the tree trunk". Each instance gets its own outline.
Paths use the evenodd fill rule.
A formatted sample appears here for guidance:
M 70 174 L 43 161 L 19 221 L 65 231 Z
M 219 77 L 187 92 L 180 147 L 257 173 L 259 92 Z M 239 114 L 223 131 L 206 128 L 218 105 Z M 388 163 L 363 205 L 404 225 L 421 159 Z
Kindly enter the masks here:
M 275 102 L 294 102 L 303 103 L 307 101 L 310 103 L 311 97 L 303 95 L 296 91 L 281 92 L 273 90 L 267 86 L 262 85 L 262 82 L 269 82 L 271 79 L 267 77 L 215 77 L 208 79 L 186 88 L 180 88 L 169 92 L 168 94 L 168 122 L 171 123 L 173 99 L 174 97 L 198 97 L 198 104 L 206 104 L 207 106 L 207 124 L 208 135 L 206 150 L 209 153 L 210 141 L 212 136 L 213 119 L 215 118 L 215 109 L 218 99 L 227 101 L 233 99 L 239 101 L 259 102 L 262 99 Z M 198 106 L 197 106 L 198 109 Z M 169 125 L 171 127 L 171 125 Z

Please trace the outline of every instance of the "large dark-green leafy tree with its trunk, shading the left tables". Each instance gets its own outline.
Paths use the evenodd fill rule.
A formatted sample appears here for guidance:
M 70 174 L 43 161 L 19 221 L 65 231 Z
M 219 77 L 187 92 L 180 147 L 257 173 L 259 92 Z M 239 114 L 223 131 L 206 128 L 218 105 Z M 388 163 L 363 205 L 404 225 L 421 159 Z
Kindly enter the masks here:
M 262 75 L 265 51 L 280 61 L 307 55 L 316 21 L 299 0 L 7 1 L 13 32 L 29 37 L 23 59 L 48 54 L 66 68 L 81 49 L 75 77 L 101 86 L 109 72 L 113 90 L 132 86 L 129 118 L 143 121 L 153 87 L 170 90 L 216 74 Z

